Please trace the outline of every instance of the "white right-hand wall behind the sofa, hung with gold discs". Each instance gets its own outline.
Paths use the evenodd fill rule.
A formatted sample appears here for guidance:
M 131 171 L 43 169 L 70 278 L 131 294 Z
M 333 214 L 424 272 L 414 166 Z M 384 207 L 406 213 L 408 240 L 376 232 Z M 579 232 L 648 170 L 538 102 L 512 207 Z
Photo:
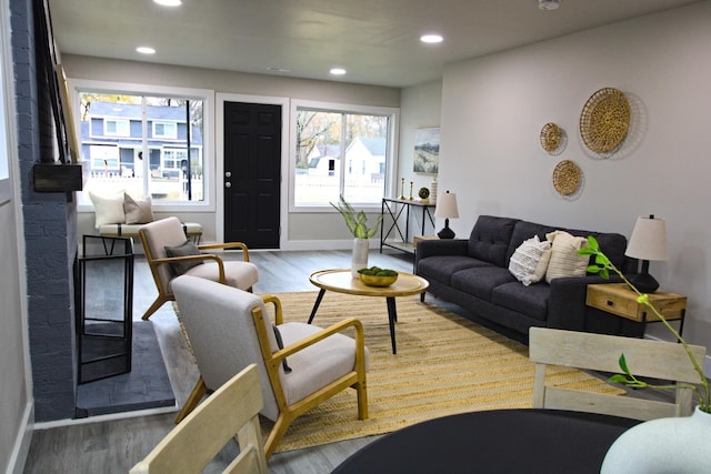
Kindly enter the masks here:
M 650 273 L 689 296 L 684 334 L 711 347 L 710 26 L 705 1 L 448 65 L 439 182 L 458 193 L 453 230 L 487 213 L 629 238 L 638 215 L 664 218 L 670 259 Z M 622 153 L 594 159 L 579 120 L 603 87 L 631 99 L 635 130 Z M 539 144 L 550 121 L 568 133 L 558 157 Z M 573 199 L 552 188 L 560 160 L 582 169 Z

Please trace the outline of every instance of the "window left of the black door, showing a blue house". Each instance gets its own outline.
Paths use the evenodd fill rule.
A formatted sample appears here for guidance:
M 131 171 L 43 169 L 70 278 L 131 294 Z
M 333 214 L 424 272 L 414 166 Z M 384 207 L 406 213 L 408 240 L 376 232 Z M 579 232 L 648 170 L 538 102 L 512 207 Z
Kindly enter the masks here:
M 92 81 L 70 84 L 80 159 L 89 168 L 80 204 L 91 205 L 89 191 L 103 195 L 124 191 L 134 198 L 150 195 L 157 206 L 214 205 L 214 191 L 207 185 L 213 163 L 204 159 L 210 143 L 203 140 L 211 134 L 206 118 L 212 91 L 151 87 L 149 92 L 127 90 L 138 85 Z

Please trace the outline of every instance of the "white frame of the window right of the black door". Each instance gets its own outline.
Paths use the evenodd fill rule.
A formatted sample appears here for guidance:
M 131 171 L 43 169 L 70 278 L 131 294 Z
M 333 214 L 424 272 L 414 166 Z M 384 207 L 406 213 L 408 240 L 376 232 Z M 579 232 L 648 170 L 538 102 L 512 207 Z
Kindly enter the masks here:
M 299 109 L 318 110 L 333 113 L 356 113 L 388 117 L 388 151 L 385 182 L 383 186 L 383 198 L 392 195 L 395 189 L 395 177 L 398 174 L 398 143 L 400 130 L 400 109 L 394 107 L 362 105 L 341 102 L 321 102 L 312 100 L 291 100 L 290 110 L 290 133 L 289 133 L 289 212 L 293 213 L 337 213 L 331 205 L 303 205 L 294 202 L 296 174 L 297 174 L 297 127 L 296 120 Z M 346 163 L 343 163 L 346 164 Z M 380 211 L 382 203 L 359 203 L 358 206 L 365 210 Z

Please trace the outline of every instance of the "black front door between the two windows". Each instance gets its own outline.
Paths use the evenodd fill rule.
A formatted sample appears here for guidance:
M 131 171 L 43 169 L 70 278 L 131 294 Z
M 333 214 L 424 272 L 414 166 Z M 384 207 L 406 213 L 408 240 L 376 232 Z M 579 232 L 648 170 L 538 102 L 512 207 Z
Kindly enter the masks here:
M 281 105 L 224 102 L 224 241 L 279 248 Z

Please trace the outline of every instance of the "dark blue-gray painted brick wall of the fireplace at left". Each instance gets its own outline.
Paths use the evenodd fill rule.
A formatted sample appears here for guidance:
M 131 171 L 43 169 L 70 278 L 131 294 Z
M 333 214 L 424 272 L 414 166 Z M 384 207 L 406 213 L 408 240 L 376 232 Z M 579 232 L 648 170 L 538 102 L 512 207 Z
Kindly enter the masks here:
M 34 418 L 72 418 L 76 350 L 72 264 L 77 253 L 77 205 L 71 195 L 33 191 L 32 167 L 56 143 L 46 93 L 38 93 L 32 1 L 11 0 L 12 58 L 18 110 L 19 171 L 24 223 Z M 41 98 L 41 99 L 40 99 Z M 42 110 L 42 112 L 40 112 Z M 44 144 L 44 147 L 42 147 Z

